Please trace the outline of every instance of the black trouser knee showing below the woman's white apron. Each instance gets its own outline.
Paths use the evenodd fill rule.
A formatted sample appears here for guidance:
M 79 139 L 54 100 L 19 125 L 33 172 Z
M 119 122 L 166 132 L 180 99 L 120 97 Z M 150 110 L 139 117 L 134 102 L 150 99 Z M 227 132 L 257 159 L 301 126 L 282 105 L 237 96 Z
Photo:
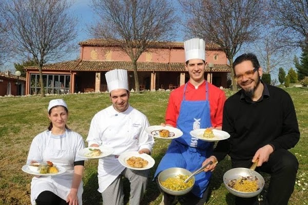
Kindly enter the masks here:
M 44 191 L 35 199 L 36 205 L 67 205 L 66 201 L 50 191 Z

